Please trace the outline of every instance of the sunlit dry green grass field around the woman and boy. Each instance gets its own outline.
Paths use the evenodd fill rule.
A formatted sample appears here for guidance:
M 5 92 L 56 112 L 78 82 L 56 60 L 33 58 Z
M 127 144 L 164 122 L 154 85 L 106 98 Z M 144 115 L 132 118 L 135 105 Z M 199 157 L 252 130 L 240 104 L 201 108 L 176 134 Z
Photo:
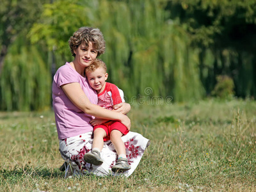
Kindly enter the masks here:
M 0 113 L 0 191 L 256 191 L 256 102 L 132 105 L 151 140 L 128 178 L 63 179 L 54 114 Z

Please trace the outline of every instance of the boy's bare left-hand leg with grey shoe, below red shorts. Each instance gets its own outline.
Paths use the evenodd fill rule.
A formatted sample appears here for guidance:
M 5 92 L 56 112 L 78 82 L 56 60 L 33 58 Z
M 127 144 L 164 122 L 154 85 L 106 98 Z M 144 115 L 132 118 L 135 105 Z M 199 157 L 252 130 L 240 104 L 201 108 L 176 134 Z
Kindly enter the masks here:
M 100 157 L 100 152 L 103 148 L 103 138 L 106 137 L 106 131 L 102 128 L 97 128 L 93 131 L 92 152 L 84 154 L 84 161 L 87 163 L 100 165 L 103 159 Z

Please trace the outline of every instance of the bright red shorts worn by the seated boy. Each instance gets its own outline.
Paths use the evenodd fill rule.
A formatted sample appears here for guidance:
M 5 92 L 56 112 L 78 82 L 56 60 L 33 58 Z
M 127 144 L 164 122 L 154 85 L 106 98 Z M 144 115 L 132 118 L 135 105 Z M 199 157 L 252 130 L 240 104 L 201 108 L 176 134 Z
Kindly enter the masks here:
M 118 121 L 110 121 L 110 122 L 106 122 L 105 124 L 96 125 L 94 126 L 93 130 L 97 128 L 102 128 L 104 129 L 104 131 L 106 131 L 107 136 L 103 138 L 104 141 L 110 140 L 110 132 L 113 131 L 114 129 L 122 132 L 122 134 L 127 134 L 129 132 L 127 127 L 125 127 L 124 124 Z

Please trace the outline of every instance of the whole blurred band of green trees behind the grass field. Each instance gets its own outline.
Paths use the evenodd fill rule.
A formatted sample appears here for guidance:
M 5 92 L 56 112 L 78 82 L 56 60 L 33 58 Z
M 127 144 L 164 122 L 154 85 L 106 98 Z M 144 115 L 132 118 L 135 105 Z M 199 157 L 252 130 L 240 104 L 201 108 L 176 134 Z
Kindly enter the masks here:
M 1 110 L 51 108 L 52 74 L 72 61 L 68 38 L 81 26 L 102 31 L 100 58 L 127 102 L 255 97 L 254 0 L 0 2 Z

